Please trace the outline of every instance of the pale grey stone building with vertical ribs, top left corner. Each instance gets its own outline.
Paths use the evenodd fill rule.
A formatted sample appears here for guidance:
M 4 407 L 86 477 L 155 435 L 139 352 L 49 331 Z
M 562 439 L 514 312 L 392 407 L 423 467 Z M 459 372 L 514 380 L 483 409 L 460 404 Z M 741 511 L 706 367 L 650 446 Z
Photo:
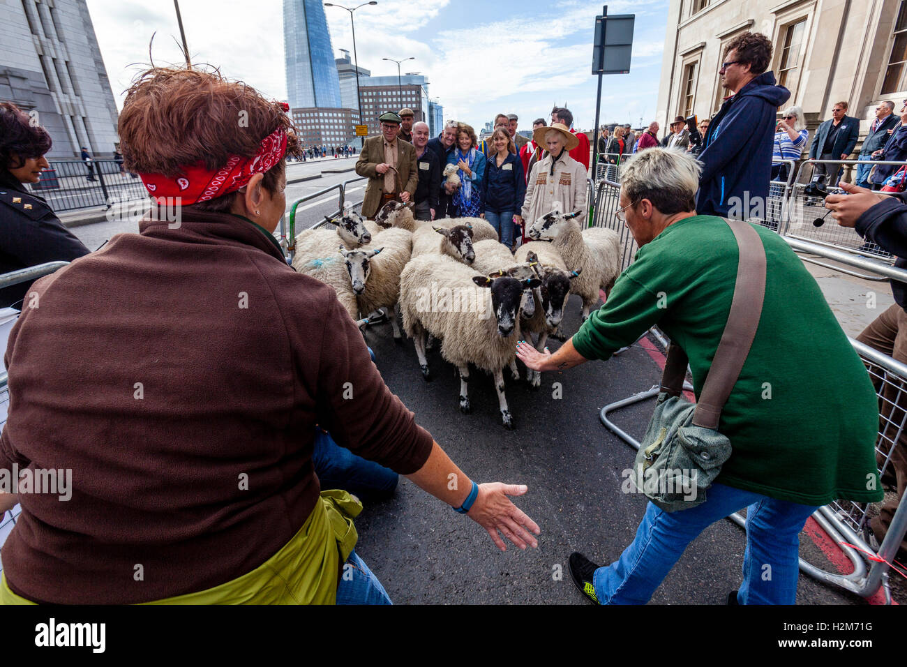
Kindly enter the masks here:
M 36 118 L 54 140 L 49 159 L 112 155 L 117 110 L 84 0 L 5 3 L 0 100 Z

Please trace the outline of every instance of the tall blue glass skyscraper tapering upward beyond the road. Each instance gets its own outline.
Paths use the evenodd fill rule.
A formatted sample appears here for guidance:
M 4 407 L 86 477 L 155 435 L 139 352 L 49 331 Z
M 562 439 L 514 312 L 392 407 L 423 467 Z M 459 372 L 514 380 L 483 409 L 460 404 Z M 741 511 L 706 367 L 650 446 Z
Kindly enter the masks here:
M 284 0 L 284 60 L 290 108 L 342 106 L 321 0 Z

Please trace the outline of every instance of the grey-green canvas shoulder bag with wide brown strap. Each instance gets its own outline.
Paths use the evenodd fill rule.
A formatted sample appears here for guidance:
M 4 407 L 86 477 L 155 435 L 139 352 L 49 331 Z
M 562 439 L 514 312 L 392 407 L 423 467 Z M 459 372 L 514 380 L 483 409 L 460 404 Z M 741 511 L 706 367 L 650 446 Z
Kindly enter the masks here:
M 668 347 L 655 413 L 633 466 L 640 492 L 666 512 L 706 502 L 706 489 L 731 456 L 731 442 L 718 433 L 721 410 L 734 388 L 756 337 L 766 295 L 766 250 L 756 230 L 727 221 L 737 242 L 734 298 L 727 324 L 697 403 L 680 396 L 687 375 L 686 352 Z

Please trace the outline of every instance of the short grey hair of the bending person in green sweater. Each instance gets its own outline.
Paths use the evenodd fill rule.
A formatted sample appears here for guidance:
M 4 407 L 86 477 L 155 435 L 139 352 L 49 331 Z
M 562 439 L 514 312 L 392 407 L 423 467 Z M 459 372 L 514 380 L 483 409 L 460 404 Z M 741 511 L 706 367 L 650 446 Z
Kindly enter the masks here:
M 652 147 L 630 156 L 620 176 L 620 189 L 635 206 L 648 199 L 661 213 L 672 215 L 696 209 L 702 164 L 688 152 Z

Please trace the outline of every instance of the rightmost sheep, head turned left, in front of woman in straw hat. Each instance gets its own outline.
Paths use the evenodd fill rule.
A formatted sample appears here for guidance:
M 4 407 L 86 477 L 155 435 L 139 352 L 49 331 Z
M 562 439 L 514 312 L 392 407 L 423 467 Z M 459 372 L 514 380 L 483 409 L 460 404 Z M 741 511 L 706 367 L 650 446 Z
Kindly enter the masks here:
M 534 240 L 550 240 L 561 253 L 566 266 L 581 271 L 571 282 L 571 290 L 582 299 L 582 320 L 600 297 L 607 294 L 620 273 L 620 237 L 616 231 L 592 227 L 580 231 L 576 221 L 580 212 L 561 213 L 560 203 L 532 223 L 529 234 Z

